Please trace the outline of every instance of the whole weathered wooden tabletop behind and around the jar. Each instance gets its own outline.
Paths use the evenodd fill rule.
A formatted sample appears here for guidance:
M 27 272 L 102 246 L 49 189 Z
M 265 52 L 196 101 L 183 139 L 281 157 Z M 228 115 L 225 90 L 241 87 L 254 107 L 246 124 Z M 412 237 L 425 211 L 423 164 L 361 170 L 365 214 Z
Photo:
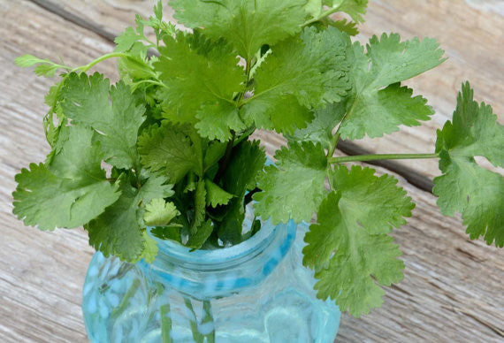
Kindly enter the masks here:
M 11 214 L 14 175 L 49 152 L 43 95 L 53 80 L 13 64 L 31 53 L 83 65 L 113 50 L 112 39 L 150 14 L 153 0 L 0 0 L 0 341 L 86 341 L 81 286 L 93 250 L 86 232 L 38 232 Z M 431 152 L 435 129 L 451 117 L 456 91 L 470 80 L 479 100 L 504 122 L 504 6 L 499 0 L 370 1 L 359 40 L 399 32 L 435 37 L 449 60 L 407 82 L 437 114 L 431 122 L 381 140 L 340 144 L 340 153 Z M 169 18 L 170 13 L 166 13 Z M 117 78 L 113 62 L 96 68 Z M 269 154 L 284 141 L 260 133 Z M 460 216 L 443 217 L 431 194 L 437 162 L 379 164 L 416 202 L 409 224 L 393 233 L 404 252 L 405 279 L 360 320 L 344 315 L 338 341 L 504 341 L 504 251 L 467 239 Z

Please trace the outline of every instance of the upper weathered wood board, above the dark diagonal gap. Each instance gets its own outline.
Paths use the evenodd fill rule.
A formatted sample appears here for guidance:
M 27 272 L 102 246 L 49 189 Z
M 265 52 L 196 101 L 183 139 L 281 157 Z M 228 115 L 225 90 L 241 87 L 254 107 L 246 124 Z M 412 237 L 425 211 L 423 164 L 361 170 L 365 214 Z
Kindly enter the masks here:
M 114 36 L 134 23 L 134 13 L 151 15 L 155 0 L 34 0 L 66 15 L 79 15 L 99 31 Z M 167 2 L 164 1 L 164 4 Z M 416 94 L 424 95 L 436 115 L 423 126 L 401 127 L 401 131 L 382 138 L 356 141 L 367 152 L 428 153 L 434 150 L 436 129 L 451 118 L 456 94 L 463 80 L 470 80 L 477 99 L 491 103 L 504 123 L 504 14 L 492 1 L 470 0 L 370 0 L 366 22 L 357 37 L 367 42 L 371 35 L 397 32 L 403 39 L 429 36 L 446 50 L 447 62 L 406 82 Z M 165 6 L 166 19 L 172 9 Z M 350 151 L 342 146 L 344 151 Z M 386 164 L 388 165 L 388 164 Z M 397 166 L 397 167 L 396 167 Z M 390 164 L 401 173 L 413 169 L 425 177 L 439 175 L 438 161 L 408 160 Z M 427 184 L 425 181 L 422 184 Z

